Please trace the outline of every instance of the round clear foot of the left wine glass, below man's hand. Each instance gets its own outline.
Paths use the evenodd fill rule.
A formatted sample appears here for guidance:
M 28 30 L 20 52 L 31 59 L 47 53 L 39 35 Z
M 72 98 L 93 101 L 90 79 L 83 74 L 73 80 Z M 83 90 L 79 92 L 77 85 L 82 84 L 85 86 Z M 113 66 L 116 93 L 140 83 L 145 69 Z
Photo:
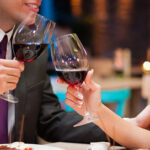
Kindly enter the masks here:
M 19 99 L 17 97 L 14 97 L 12 94 L 10 93 L 4 93 L 3 95 L 0 95 L 0 98 L 3 100 L 6 100 L 10 103 L 18 103 Z

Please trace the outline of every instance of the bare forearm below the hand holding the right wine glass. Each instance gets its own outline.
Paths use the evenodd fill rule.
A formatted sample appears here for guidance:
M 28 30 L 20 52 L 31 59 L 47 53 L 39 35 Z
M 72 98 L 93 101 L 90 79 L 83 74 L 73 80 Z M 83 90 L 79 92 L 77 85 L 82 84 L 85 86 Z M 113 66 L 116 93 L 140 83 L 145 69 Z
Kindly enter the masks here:
M 95 123 L 121 145 L 129 148 L 150 147 L 150 131 L 123 120 L 103 104 L 99 105 L 97 113 L 99 120 Z

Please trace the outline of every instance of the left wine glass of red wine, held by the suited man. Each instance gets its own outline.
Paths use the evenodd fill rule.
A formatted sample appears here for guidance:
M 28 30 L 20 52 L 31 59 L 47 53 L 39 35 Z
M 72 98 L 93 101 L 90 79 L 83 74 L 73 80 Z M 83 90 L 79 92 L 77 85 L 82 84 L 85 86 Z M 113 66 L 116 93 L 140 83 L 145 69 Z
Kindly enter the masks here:
M 48 46 L 55 23 L 39 14 L 30 14 L 16 29 L 12 47 L 17 60 L 34 61 Z M 5 93 L 4 100 L 17 103 L 19 100 L 10 92 Z

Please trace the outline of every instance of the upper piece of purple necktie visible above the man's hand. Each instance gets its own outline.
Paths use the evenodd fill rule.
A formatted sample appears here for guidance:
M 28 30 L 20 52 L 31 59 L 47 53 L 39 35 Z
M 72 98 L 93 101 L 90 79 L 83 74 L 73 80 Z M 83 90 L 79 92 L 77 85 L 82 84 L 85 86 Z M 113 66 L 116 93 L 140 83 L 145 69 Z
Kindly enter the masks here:
M 6 56 L 6 49 L 7 49 L 7 42 L 8 42 L 8 37 L 5 35 L 0 42 L 0 58 L 5 58 Z

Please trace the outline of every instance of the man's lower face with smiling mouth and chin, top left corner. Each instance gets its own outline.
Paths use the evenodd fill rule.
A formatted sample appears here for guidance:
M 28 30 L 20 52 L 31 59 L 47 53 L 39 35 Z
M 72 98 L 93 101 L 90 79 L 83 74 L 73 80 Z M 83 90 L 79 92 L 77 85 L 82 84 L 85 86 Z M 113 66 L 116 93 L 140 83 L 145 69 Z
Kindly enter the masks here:
M 0 0 L 0 28 L 23 21 L 31 12 L 37 13 L 42 0 Z

